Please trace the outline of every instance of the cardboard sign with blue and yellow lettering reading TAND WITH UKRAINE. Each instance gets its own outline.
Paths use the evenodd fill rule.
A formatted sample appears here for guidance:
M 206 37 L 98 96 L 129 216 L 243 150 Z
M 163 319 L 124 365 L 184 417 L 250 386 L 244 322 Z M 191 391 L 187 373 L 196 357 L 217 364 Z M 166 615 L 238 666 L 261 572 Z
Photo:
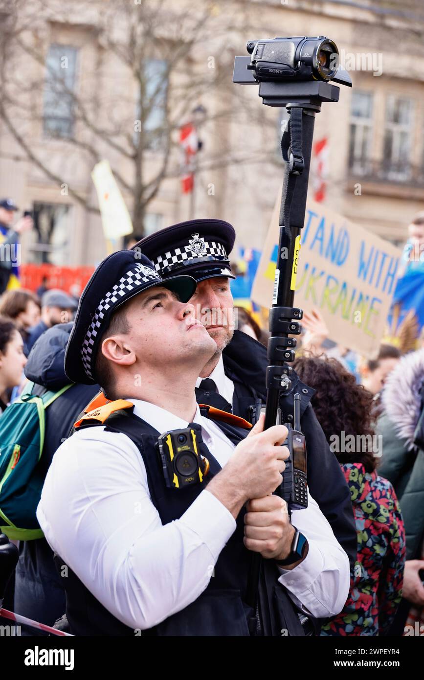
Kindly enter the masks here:
M 270 307 L 278 260 L 277 199 L 252 299 Z M 285 254 L 283 253 L 284 257 Z M 402 251 L 349 222 L 328 207 L 308 201 L 300 238 L 294 305 L 317 307 L 330 339 L 368 358 L 378 353 L 395 290 Z

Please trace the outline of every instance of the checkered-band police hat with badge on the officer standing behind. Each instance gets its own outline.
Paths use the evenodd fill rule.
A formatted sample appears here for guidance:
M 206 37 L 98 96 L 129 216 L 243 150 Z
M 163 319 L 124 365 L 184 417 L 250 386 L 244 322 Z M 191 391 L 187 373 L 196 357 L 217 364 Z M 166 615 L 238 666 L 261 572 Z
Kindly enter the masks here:
M 228 256 L 236 233 L 222 220 L 180 222 L 141 239 L 133 250 L 152 260 L 165 279 L 190 274 L 197 282 L 217 276 L 235 279 Z

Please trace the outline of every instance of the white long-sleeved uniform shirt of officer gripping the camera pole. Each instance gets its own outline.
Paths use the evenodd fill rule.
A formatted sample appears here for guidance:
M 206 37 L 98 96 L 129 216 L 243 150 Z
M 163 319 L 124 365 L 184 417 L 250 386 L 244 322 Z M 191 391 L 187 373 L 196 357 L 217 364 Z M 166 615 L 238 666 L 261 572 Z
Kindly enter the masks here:
M 188 425 L 160 407 L 130 401 L 159 432 Z M 234 445 L 198 408 L 193 420 L 224 466 Z M 292 571 L 276 567 L 276 577 L 304 611 L 328 617 L 347 599 L 349 560 L 315 500 L 308 500 L 307 509 L 292 514 L 308 539 L 308 555 Z M 60 445 L 37 518 L 52 549 L 94 597 L 126 626 L 142 630 L 198 598 L 236 528 L 230 511 L 207 490 L 179 520 L 162 525 L 139 450 L 126 435 L 101 426 L 75 432 Z

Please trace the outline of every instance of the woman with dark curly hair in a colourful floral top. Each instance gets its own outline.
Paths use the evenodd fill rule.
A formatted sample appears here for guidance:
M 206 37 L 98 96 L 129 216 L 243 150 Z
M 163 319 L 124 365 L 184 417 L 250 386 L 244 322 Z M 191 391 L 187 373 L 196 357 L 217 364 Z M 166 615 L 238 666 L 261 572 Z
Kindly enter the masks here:
M 316 390 L 311 404 L 345 474 L 357 528 L 349 598 L 321 635 L 385 635 L 402 597 L 405 530 L 393 486 L 376 472 L 373 396 L 336 359 L 302 357 L 294 369 Z

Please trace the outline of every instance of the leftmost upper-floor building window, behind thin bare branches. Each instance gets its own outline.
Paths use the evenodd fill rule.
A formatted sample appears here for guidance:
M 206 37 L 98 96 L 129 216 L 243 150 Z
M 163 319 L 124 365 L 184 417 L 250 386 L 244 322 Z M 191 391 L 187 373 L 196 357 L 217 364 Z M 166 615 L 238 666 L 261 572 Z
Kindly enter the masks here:
M 50 45 L 46 58 L 43 129 L 52 137 L 72 137 L 73 88 L 77 65 L 77 48 Z

